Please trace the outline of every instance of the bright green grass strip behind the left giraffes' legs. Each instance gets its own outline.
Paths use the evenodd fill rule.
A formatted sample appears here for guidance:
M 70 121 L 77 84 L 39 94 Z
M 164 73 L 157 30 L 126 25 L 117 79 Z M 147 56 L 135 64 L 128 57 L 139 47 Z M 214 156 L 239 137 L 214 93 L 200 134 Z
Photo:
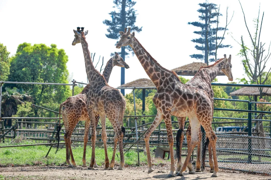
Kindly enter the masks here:
M 35 144 L 33 141 L 22 141 L 20 143 L 1 143 L 0 146 L 5 145 L 19 145 L 19 144 Z M 66 165 L 66 149 L 59 149 L 57 154 L 54 154 L 56 148 L 52 148 L 48 157 L 45 155 L 49 147 L 41 146 L 27 146 L 27 147 L 10 147 L 10 148 L 0 148 L 0 165 Z M 109 162 L 111 161 L 113 149 L 107 148 Z M 117 148 L 118 150 L 118 148 Z M 73 157 L 77 165 L 82 165 L 83 158 L 83 147 L 72 147 Z M 120 163 L 120 152 L 117 151 L 115 156 L 115 163 Z M 154 153 L 151 151 L 151 156 L 154 157 Z M 95 148 L 95 157 L 98 165 L 104 164 L 104 148 Z M 140 163 L 147 163 L 147 155 L 144 152 L 139 153 Z M 86 161 L 89 164 L 91 159 L 91 147 L 86 148 Z M 137 152 L 128 151 L 124 152 L 125 164 L 136 165 L 137 164 Z M 0 176 L 1 178 L 1 176 Z

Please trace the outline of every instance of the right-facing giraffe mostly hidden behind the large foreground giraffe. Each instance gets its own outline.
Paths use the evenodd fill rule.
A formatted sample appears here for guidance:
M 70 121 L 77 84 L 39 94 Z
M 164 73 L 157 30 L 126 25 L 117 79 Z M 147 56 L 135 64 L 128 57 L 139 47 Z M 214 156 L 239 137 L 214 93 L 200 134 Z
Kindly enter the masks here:
M 208 94 L 210 94 L 212 98 L 212 104 L 214 104 L 214 92 L 211 87 L 211 82 L 215 79 L 217 74 L 220 72 L 220 70 L 228 77 L 228 80 L 233 81 L 233 75 L 231 73 L 231 55 L 227 59 L 226 55 L 224 55 L 224 58 L 219 59 L 217 62 L 215 62 L 212 65 L 209 66 L 202 66 L 198 72 L 195 74 L 195 76 L 189 80 L 186 85 L 203 89 Z M 182 161 L 181 161 L 181 150 L 182 150 L 182 143 L 183 143 L 183 129 L 185 125 L 185 119 L 186 117 L 178 117 L 178 123 L 179 123 L 179 130 L 177 132 L 176 136 L 176 157 L 178 157 L 178 163 L 177 163 L 177 169 L 176 173 L 179 172 L 179 170 L 182 167 Z M 197 160 L 196 160 L 196 172 L 201 172 L 201 160 L 200 160 L 200 154 L 201 154 L 201 138 L 202 138 L 202 132 L 199 128 L 198 131 L 199 134 L 199 143 L 197 148 Z M 191 142 L 191 126 L 189 124 L 187 131 L 186 131 L 186 139 L 188 144 L 188 151 L 190 149 L 190 142 Z M 210 172 L 214 172 L 214 161 L 212 160 L 212 152 L 211 152 L 211 146 L 209 146 L 209 164 L 210 164 Z M 188 162 L 188 169 L 189 174 L 194 174 L 195 171 L 192 168 L 191 164 L 191 158 Z

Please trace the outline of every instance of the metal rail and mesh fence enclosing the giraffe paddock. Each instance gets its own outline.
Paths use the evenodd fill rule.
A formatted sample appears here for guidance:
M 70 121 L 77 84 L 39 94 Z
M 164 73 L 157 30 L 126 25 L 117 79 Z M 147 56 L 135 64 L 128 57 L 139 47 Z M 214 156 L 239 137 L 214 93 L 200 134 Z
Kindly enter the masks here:
M 73 84 L 58 84 L 58 83 L 24 83 L 24 82 L 1 82 L 1 87 L 0 87 L 0 102 L 1 102 L 1 97 L 2 97 L 2 84 L 3 83 L 20 83 L 20 84 L 48 84 L 48 85 L 69 85 L 72 86 L 72 93 L 74 92 L 74 86 L 76 86 L 75 80 L 72 81 Z M 86 83 L 80 83 L 80 84 L 86 84 Z M 234 87 L 271 87 L 271 85 L 250 85 L 250 84 L 220 84 L 220 83 L 212 83 L 212 86 L 234 86 Z M 143 125 L 137 125 L 137 118 L 144 118 L 144 117 L 154 117 L 155 115 L 151 116 L 137 116 L 136 115 L 136 109 L 135 109 L 135 89 L 156 89 L 155 87 L 129 87 L 129 88 L 117 88 L 117 89 L 132 89 L 133 90 L 133 97 L 134 97 L 134 116 L 125 116 L 125 117 L 131 117 L 134 118 L 135 120 L 135 127 L 130 129 L 130 136 L 127 137 L 125 140 L 126 142 L 124 144 L 132 144 L 137 145 L 137 152 L 139 152 L 139 146 L 144 146 L 144 141 L 141 141 L 140 138 L 144 136 L 144 133 L 147 131 L 147 127 L 152 123 L 146 123 Z M 271 147 L 270 147 L 270 142 L 271 138 L 267 137 L 253 137 L 253 135 L 257 135 L 257 133 L 253 133 L 251 131 L 252 128 L 252 122 L 254 121 L 269 121 L 270 122 L 270 135 L 271 135 L 271 120 L 258 120 L 258 119 L 253 119 L 251 113 L 264 113 L 264 114 L 271 114 L 269 111 L 254 111 L 251 110 L 252 104 L 253 103 L 260 103 L 260 102 L 250 102 L 247 100 L 234 100 L 234 99 L 219 99 L 219 98 L 214 98 L 215 100 L 223 100 L 223 101 L 235 101 L 235 102 L 243 102 L 248 104 L 248 109 L 247 110 L 239 110 L 239 109 L 224 109 L 224 108 L 214 108 L 214 110 L 219 110 L 219 111 L 235 111 L 235 112 L 245 112 L 248 113 L 247 117 L 248 118 L 232 118 L 232 117 L 213 117 L 213 119 L 226 119 L 226 120 L 234 120 L 234 121 L 228 121 L 228 122 L 212 122 L 212 124 L 231 124 L 231 123 L 246 123 L 248 126 L 248 132 L 231 132 L 231 133 L 216 133 L 218 137 L 217 141 L 217 157 L 219 161 L 219 167 L 220 168 L 230 168 L 230 169 L 235 169 L 239 171 L 253 171 L 253 172 L 261 172 L 261 173 L 271 173 L 270 165 L 271 164 Z M 42 107 L 41 107 L 42 108 Z M 45 108 L 46 109 L 46 108 Z M 48 110 L 48 109 L 47 109 Z M 55 112 L 55 111 L 54 111 Z M 58 112 L 57 112 L 58 113 Z M 0 103 L 0 114 L 1 114 L 1 103 Z M 8 117 L 10 119 L 10 117 Z M 20 117 L 21 119 L 27 119 L 24 117 Z M 4 118 L 2 118 L 4 119 Z M 15 118 L 14 118 L 15 119 Z M 19 119 L 19 118 L 18 118 Z M 31 118 L 28 118 L 31 119 Z M 33 119 L 39 119 L 39 118 L 33 118 Z M 46 119 L 46 118 L 42 118 Z M 3 121 L 2 121 L 3 122 Z M 164 122 L 162 122 L 164 123 Z M 162 124 L 161 123 L 161 124 Z M 177 123 L 177 122 L 172 122 L 172 123 Z M 2 123 L 3 124 L 3 123 Z M 4 137 L 8 137 L 8 133 L 11 133 L 12 130 L 14 131 L 13 136 L 16 134 L 16 128 L 19 128 L 18 124 L 20 122 L 17 122 L 15 126 L 5 129 L 1 128 L 2 135 L 0 135 L 0 139 L 4 140 Z M 166 131 L 163 131 L 160 127 L 161 124 L 159 125 L 158 129 L 156 129 L 153 132 L 153 139 L 150 141 L 150 145 L 152 146 L 168 146 L 167 141 L 162 142 L 163 139 L 166 139 Z M 80 125 L 82 126 L 82 125 Z M 54 130 L 53 130 L 54 128 Z M 138 129 L 139 128 L 139 129 Z M 141 128 L 141 129 L 140 129 Z M 35 130 L 30 130 L 30 128 L 26 128 L 27 130 L 24 129 L 19 129 L 22 132 L 27 132 L 27 134 L 30 135 L 32 131 L 33 133 L 38 133 L 35 132 Z M 107 128 L 109 129 L 109 128 Z M 42 144 L 36 144 L 36 145 L 51 145 L 53 146 L 51 141 L 54 140 L 54 133 L 56 132 L 56 125 L 54 127 L 50 127 L 48 130 L 47 128 L 47 133 L 50 133 L 46 135 L 46 137 L 28 137 L 28 139 L 31 140 L 43 140 L 43 141 L 48 141 L 48 143 L 42 143 Z M 17 130 L 17 133 L 20 133 Z M 83 131 L 78 131 L 77 134 L 83 134 Z M 64 134 L 64 132 L 62 132 Z M 76 133 L 74 133 L 76 134 Z M 235 135 L 235 134 L 247 134 L 247 135 Z M 203 133 L 203 138 L 202 138 L 202 144 L 205 142 L 204 138 L 204 133 Z M 12 136 L 12 134 L 11 134 Z M 110 136 L 109 136 L 110 138 Z M 63 141 L 63 139 L 61 139 Z M 78 139 L 73 139 L 75 142 L 82 142 L 82 140 Z M 112 141 L 108 140 L 108 144 L 112 144 Z M 102 142 L 97 141 L 98 144 L 102 144 Z M 186 142 L 186 141 L 185 141 Z M 132 147 L 130 146 L 128 150 Z M 2 146 L 3 147 L 3 146 Z M 0 147 L 0 148 L 2 148 Z M 4 146 L 4 147 L 10 147 L 10 146 Z M 185 145 L 184 145 L 185 147 Z M 50 149 L 49 149 L 50 151 Z M 208 151 L 207 151 L 208 152 Z M 49 152 L 47 153 L 47 155 Z M 207 154 L 208 156 L 208 154 Z M 193 156 L 192 156 L 193 157 Z M 207 158 L 208 159 L 208 158 Z M 206 161 L 208 162 L 208 160 Z M 139 156 L 138 156 L 138 164 L 139 164 Z M 242 164 L 242 166 L 239 166 L 239 164 Z M 238 167 L 238 168 L 237 168 Z

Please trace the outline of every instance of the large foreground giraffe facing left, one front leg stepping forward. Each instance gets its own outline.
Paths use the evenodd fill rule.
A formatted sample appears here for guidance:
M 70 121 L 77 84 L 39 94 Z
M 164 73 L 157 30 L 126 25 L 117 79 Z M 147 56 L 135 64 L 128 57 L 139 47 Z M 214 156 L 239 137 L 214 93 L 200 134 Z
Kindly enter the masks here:
M 218 164 L 216 158 L 216 140 L 217 137 L 212 130 L 212 100 L 210 95 L 195 87 L 190 87 L 183 84 L 177 74 L 162 67 L 139 43 L 135 38 L 135 33 L 130 32 L 131 28 L 125 28 L 124 32 L 120 31 L 120 41 L 117 43 L 116 48 L 122 46 L 131 46 L 139 62 L 143 66 L 145 72 L 153 81 L 157 88 L 157 92 L 153 97 L 153 103 L 157 109 L 156 117 L 151 124 L 149 130 L 147 130 L 144 140 L 146 143 L 146 152 L 148 157 L 148 173 L 153 172 L 152 162 L 150 156 L 149 139 L 151 133 L 156 129 L 160 122 L 164 119 L 167 128 L 167 137 L 170 147 L 170 159 L 171 167 L 168 177 L 174 177 L 174 155 L 173 155 L 173 133 L 171 115 L 177 117 L 189 117 L 189 123 L 191 124 L 191 148 L 188 151 L 188 155 L 182 166 L 182 169 L 177 175 L 183 175 L 182 172 L 188 164 L 192 150 L 199 142 L 198 129 L 202 125 L 206 131 L 207 137 L 209 137 L 210 144 L 212 145 L 214 154 L 214 174 L 216 177 L 218 172 Z

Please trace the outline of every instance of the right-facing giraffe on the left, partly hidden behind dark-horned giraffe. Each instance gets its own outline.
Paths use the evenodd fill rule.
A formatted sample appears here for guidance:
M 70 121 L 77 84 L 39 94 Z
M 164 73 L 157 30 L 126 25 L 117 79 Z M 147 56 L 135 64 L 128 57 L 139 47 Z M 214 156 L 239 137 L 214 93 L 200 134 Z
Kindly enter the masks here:
M 126 69 L 129 68 L 128 64 L 125 63 L 125 61 L 118 55 L 117 52 L 115 52 L 115 56 L 111 57 L 103 71 L 103 76 L 105 80 L 108 82 L 110 74 L 112 72 L 112 69 L 114 66 L 120 66 L 120 67 L 125 67 Z M 75 96 L 69 97 L 66 101 L 64 101 L 62 104 L 60 104 L 59 107 L 59 131 L 56 134 L 56 137 L 59 136 L 59 132 L 61 130 L 61 125 L 60 125 L 60 112 L 62 111 L 62 117 L 63 117 L 63 123 L 66 128 L 66 134 L 64 136 L 65 144 L 66 144 L 66 162 L 68 164 L 68 167 L 76 167 L 76 163 L 73 159 L 72 155 L 72 150 L 71 150 L 71 142 L 69 139 L 71 138 L 72 132 L 78 123 L 78 121 L 85 121 L 85 135 L 84 135 L 84 153 L 83 153 L 83 165 L 82 167 L 87 167 L 86 165 L 86 145 L 88 142 L 88 132 L 89 132 L 89 125 L 90 125 L 90 119 L 88 116 L 88 110 L 86 107 L 86 93 L 89 90 L 89 84 L 86 85 L 86 87 L 82 90 L 80 94 L 77 94 Z M 99 121 L 99 116 L 95 117 L 96 121 L 96 127 L 98 125 Z M 58 138 L 59 142 L 59 138 Z M 57 147 L 58 149 L 58 147 Z M 72 157 L 72 164 L 69 161 L 69 149 L 70 149 L 70 154 Z M 56 151 L 57 152 L 57 151 Z M 93 167 L 98 167 L 96 164 L 96 161 L 94 163 Z

